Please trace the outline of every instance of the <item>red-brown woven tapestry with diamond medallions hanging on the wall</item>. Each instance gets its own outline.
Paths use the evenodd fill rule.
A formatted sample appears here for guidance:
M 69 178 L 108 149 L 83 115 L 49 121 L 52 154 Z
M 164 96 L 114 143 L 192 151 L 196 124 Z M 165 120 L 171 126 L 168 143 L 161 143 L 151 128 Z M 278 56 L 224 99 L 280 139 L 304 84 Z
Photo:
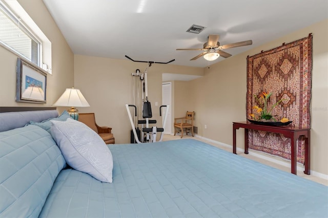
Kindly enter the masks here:
M 282 46 L 247 57 L 246 113 L 253 113 L 257 105 L 254 96 L 271 93 L 268 106 L 277 121 L 285 117 L 290 125 L 310 128 L 310 99 L 312 72 L 312 34 L 283 43 Z M 305 138 L 297 141 L 297 162 L 304 163 Z M 249 148 L 291 159 L 291 140 L 282 134 L 249 130 Z

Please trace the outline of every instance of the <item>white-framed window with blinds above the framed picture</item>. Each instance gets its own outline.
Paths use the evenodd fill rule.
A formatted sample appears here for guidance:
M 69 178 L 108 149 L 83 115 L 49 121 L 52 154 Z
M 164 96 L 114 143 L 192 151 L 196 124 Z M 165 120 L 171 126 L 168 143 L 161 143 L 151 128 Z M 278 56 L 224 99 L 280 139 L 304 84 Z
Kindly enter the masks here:
M 51 42 L 16 0 L 0 0 L 0 44 L 51 73 Z

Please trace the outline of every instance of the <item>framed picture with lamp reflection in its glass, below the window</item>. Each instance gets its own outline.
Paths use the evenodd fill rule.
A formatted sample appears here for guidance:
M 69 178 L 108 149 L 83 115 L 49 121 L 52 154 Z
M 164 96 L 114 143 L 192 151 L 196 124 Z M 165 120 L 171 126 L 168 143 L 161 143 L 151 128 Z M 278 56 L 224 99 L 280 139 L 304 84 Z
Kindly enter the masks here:
M 17 102 L 47 102 L 47 72 L 34 64 L 17 58 L 16 74 Z

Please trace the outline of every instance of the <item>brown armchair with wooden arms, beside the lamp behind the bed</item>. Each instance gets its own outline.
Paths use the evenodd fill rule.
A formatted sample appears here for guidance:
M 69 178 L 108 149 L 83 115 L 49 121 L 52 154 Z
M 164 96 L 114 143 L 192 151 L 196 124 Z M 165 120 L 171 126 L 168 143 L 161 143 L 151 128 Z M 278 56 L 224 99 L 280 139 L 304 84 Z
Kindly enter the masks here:
M 112 128 L 108 126 L 98 126 L 95 120 L 94 113 L 78 114 L 78 121 L 83 122 L 93 129 L 106 144 L 115 144 L 115 138 L 112 134 Z

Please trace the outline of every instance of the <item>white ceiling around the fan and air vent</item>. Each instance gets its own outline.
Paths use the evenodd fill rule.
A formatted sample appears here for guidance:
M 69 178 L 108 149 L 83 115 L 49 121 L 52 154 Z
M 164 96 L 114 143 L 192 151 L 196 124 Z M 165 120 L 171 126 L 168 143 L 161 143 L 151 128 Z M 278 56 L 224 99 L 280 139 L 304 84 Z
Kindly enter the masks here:
M 327 0 L 43 0 L 74 54 L 206 67 L 209 34 L 220 45 L 253 40 L 224 50 L 232 55 L 258 47 L 328 18 Z M 199 34 L 186 32 L 206 26 Z M 304 36 L 305 37 L 305 36 Z M 213 64 L 224 58 L 219 57 Z

